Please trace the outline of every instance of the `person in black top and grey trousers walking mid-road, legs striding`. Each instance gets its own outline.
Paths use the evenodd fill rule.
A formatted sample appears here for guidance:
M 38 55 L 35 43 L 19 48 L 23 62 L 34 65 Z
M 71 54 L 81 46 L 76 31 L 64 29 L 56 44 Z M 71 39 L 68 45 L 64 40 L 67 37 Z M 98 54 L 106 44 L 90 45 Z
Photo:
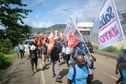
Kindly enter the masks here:
M 51 55 L 51 62 L 52 62 L 52 71 L 53 71 L 53 77 L 56 76 L 56 82 L 62 83 L 60 79 L 60 71 L 59 71 L 59 53 L 58 45 L 55 42 L 54 47 L 50 53 Z

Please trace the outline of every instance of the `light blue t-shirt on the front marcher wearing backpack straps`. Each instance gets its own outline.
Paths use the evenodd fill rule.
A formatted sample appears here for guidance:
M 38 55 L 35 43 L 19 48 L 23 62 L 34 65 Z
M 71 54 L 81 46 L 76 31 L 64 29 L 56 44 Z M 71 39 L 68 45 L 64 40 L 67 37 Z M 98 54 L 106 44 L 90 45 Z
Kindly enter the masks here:
M 78 67 L 78 65 L 75 65 L 76 68 L 76 75 L 75 75 L 75 80 L 73 80 L 73 75 L 74 75 L 74 69 L 70 68 L 68 72 L 68 79 L 72 80 L 72 84 L 87 84 L 86 80 L 89 74 L 89 69 L 84 66 L 82 68 Z

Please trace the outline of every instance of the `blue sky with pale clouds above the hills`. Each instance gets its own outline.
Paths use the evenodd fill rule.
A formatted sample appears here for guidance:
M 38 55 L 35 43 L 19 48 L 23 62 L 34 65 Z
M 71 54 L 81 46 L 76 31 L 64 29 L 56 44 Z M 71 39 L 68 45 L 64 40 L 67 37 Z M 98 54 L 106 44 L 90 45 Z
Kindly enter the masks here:
M 29 13 L 24 22 L 34 28 L 66 24 L 69 17 L 77 22 L 91 22 L 105 0 L 22 0 Z M 115 0 L 119 11 L 126 10 L 126 0 Z

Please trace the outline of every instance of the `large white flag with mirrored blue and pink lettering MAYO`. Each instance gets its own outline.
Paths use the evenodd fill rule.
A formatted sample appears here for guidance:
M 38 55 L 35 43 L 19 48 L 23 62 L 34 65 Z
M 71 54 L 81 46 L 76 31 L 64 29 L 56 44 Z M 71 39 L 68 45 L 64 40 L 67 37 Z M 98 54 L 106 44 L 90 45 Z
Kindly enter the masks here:
M 99 48 L 103 49 L 111 46 L 113 43 L 123 39 L 124 34 L 119 21 L 115 3 L 113 0 L 107 0 L 99 14 L 98 41 Z

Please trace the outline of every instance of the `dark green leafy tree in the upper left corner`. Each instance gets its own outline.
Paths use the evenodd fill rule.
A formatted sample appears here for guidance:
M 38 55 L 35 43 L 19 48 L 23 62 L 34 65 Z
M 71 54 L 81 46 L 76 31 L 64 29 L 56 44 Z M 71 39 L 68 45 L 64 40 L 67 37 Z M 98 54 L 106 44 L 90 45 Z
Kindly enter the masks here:
M 32 12 L 25 9 L 26 6 L 21 0 L 0 0 L 0 25 L 6 28 L 6 39 L 10 39 L 13 45 L 26 38 L 24 36 L 30 32 L 30 27 L 23 22 Z

